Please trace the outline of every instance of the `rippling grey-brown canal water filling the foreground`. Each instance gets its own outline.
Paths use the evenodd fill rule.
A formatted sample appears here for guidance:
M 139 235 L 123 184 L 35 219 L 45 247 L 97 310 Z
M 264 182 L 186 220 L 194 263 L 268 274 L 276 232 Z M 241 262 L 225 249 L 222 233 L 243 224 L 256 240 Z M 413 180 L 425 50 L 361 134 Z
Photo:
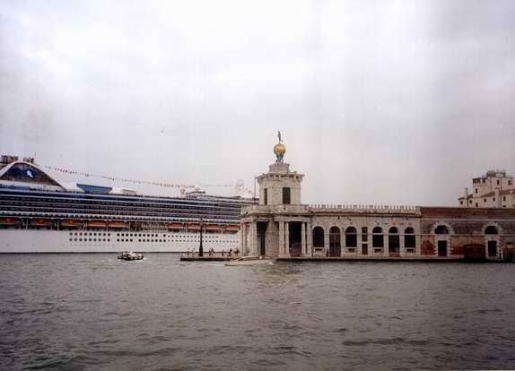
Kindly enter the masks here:
M 0 369 L 515 368 L 515 264 L 0 255 Z

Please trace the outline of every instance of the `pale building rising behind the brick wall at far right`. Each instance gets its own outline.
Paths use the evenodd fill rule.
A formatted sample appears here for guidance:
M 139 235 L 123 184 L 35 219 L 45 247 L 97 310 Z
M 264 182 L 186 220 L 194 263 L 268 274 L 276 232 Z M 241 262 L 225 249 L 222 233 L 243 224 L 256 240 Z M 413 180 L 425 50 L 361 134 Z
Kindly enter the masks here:
M 515 208 L 513 177 L 506 176 L 505 170 L 487 171 L 472 179 L 472 193 L 465 188 L 458 202 L 461 207 Z

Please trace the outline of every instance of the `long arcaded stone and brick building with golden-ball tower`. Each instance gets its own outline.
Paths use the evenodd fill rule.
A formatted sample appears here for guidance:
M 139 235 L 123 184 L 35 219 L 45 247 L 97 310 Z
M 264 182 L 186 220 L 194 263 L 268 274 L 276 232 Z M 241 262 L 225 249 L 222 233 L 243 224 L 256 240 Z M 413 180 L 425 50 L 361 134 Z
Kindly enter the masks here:
M 259 203 L 241 211 L 244 255 L 348 259 L 511 258 L 515 209 L 301 203 L 302 174 L 275 163 L 258 177 Z

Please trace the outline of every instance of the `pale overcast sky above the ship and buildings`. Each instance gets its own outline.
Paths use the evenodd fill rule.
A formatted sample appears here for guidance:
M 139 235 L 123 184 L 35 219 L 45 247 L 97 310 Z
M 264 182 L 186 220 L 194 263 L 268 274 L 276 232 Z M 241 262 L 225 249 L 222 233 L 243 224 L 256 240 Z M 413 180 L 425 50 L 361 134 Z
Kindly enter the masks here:
M 304 203 L 457 205 L 515 173 L 514 20 L 515 1 L 3 1 L 0 152 L 252 189 L 279 129 Z

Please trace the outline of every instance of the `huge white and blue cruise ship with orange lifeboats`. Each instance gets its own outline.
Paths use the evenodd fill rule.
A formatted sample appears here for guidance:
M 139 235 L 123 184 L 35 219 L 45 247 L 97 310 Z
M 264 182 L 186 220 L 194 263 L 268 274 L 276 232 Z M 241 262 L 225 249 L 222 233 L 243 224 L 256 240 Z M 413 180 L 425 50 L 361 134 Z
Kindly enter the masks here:
M 0 160 L 0 253 L 184 253 L 240 246 L 240 211 L 256 203 L 194 188 L 178 197 L 65 185 L 34 159 Z

